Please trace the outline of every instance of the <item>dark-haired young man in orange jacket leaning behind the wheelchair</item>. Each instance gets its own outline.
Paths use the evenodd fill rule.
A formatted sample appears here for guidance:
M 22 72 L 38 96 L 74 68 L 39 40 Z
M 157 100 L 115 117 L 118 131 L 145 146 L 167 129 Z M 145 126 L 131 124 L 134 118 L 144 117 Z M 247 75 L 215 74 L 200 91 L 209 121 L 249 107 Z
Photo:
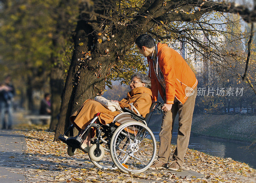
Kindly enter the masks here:
M 179 113 L 177 147 L 172 155 L 173 161 L 168 167 L 169 170 L 178 170 L 182 168 L 188 148 L 197 92 L 196 76 L 182 56 L 169 48 L 167 44 L 156 44 L 154 39 L 147 34 L 140 35 L 135 44 L 140 53 L 148 59 L 152 102 L 157 100 L 158 91 L 164 100 L 158 158 L 151 168 L 167 167 L 173 123 Z

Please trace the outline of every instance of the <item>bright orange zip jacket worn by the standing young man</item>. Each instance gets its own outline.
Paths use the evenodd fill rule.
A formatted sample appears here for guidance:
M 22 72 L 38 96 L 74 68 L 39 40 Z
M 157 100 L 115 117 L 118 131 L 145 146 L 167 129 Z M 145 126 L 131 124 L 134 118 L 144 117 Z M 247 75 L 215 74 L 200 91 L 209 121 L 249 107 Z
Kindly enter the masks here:
M 153 95 L 152 101 L 157 101 L 158 91 L 166 104 L 173 104 L 176 97 L 182 104 L 188 99 L 189 93 L 195 89 L 197 79 L 194 72 L 188 66 L 182 56 L 168 47 L 167 44 L 157 44 L 158 67 L 160 67 L 165 81 L 165 92 L 159 83 L 153 68 L 153 62 L 147 57 L 149 64 L 149 76 L 151 78 L 151 91 Z M 166 93 L 166 94 L 165 94 Z

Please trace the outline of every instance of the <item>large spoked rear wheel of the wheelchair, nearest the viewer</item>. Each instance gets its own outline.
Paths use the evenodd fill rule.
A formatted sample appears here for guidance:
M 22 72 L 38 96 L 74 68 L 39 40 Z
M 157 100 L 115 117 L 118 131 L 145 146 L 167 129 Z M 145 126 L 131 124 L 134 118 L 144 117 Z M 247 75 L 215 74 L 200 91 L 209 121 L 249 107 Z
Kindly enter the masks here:
M 147 170 L 156 156 L 153 132 L 137 121 L 121 124 L 113 134 L 110 147 L 113 162 L 125 173 Z

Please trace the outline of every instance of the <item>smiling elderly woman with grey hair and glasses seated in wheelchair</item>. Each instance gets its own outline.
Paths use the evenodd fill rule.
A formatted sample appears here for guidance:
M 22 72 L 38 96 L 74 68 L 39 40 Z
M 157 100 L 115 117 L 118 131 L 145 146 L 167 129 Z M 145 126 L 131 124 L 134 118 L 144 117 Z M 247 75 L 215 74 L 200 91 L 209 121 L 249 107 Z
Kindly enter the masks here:
M 124 98 L 121 101 L 114 101 L 118 102 L 122 109 L 124 109 L 124 107 L 131 109 L 131 105 L 129 103 L 132 103 L 139 111 L 140 115 L 145 117 L 146 114 L 149 113 L 149 108 L 152 103 L 152 92 L 150 90 L 151 81 L 145 74 L 133 74 L 129 85 L 131 91 L 127 93 L 127 98 Z M 100 115 L 98 115 L 98 119 L 101 124 L 111 123 L 114 117 L 120 114 L 117 111 L 112 112 L 108 110 L 97 101 L 86 100 L 82 107 L 70 116 L 70 121 L 78 131 L 81 132 L 99 112 Z M 84 148 L 87 152 L 89 150 L 90 140 L 92 137 L 91 133 L 92 131 L 87 133 L 87 138 L 83 142 L 84 145 L 87 145 L 87 147 Z

